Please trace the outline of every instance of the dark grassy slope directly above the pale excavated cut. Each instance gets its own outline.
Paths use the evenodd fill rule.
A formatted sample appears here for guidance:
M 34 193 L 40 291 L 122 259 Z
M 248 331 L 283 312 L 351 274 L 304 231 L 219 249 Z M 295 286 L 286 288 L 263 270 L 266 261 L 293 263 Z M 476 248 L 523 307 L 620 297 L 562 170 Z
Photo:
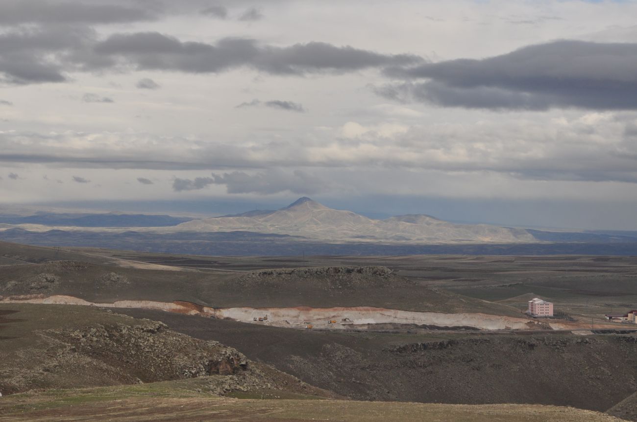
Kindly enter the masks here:
M 126 280 L 110 283 L 111 273 Z M 41 274 L 53 275 L 57 282 L 34 285 Z M 291 307 L 378 306 L 413 311 L 482 312 L 519 317 L 518 310 L 504 304 L 425 286 L 404 283 L 362 286 L 357 289 L 326 289 L 313 280 L 296 280 L 272 289 L 269 285 L 241 285 L 234 282 L 242 273 L 210 270 L 162 271 L 122 268 L 79 261 L 45 262 L 3 266 L 0 271 L 0 295 L 63 294 L 88 301 L 112 302 L 121 299 L 153 301 L 183 300 L 217 308 L 234 306 Z

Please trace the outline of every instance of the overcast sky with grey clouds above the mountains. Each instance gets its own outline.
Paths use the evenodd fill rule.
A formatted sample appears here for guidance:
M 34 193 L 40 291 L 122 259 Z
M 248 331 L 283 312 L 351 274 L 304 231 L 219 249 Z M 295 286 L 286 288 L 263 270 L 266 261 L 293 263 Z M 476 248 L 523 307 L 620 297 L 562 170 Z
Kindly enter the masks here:
M 637 230 L 636 1 L 0 0 L 0 205 Z

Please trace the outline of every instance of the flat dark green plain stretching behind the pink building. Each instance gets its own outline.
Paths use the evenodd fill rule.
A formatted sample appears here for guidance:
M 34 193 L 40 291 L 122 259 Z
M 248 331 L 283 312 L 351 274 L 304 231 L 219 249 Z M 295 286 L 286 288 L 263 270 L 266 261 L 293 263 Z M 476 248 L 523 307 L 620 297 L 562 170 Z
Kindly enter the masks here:
M 200 269 L 246 271 L 300 266 L 387 266 L 426 287 L 457 294 L 503 301 L 524 308 L 524 301 L 509 301 L 525 294 L 553 301 L 562 310 L 586 315 L 626 311 L 637 303 L 637 257 L 585 255 L 533 256 L 307 256 L 207 257 L 97 251 L 105 256 Z

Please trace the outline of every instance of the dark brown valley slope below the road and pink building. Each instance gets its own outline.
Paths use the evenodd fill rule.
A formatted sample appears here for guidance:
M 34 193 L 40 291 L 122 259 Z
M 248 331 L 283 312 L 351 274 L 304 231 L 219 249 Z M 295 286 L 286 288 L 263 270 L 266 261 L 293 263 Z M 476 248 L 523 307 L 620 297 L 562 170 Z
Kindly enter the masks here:
M 605 411 L 637 389 L 635 336 L 311 332 L 122 311 L 162 320 L 190 336 L 217 338 L 252 360 L 357 399 L 539 403 Z M 538 383 L 528 386 L 524 379 Z

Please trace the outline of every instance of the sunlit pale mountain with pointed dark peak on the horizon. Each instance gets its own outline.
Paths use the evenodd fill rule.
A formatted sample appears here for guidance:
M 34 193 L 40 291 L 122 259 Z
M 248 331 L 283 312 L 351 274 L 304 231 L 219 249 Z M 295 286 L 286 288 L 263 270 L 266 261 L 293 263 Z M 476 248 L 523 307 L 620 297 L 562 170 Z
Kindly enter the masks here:
M 303 236 L 332 242 L 419 243 L 520 243 L 538 242 L 525 229 L 488 224 L 454 224 L 425 214 L 376 220 L 347 210 L 334 210 L 299 198 L 279 210 L 254 210 L 242 214 L 196 219 L 169 231 L 250 231 Z

